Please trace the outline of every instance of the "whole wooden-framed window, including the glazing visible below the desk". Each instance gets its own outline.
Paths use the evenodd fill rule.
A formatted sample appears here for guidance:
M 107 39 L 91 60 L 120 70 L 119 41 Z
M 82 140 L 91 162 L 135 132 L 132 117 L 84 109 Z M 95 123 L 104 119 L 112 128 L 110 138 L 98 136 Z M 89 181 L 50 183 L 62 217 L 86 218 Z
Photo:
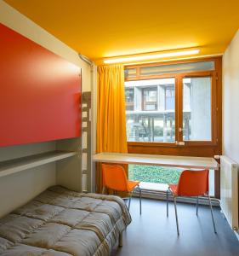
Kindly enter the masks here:
M 221 57 L 125 68 L 128 152 L 213 157 L 221 151 Z M 128 103 L 126 103 L 127 106 Z M 160 170 L 159 170 L 160 169 Z M 172 183 L 178 170 L 129 166 L 144 182 Z M 160 174 L 159 174 L 160 173 Z M 167 180 L 168 178 L 168 180 Z M 210 195 L 219 197 L 219 172 L 210 171 Z

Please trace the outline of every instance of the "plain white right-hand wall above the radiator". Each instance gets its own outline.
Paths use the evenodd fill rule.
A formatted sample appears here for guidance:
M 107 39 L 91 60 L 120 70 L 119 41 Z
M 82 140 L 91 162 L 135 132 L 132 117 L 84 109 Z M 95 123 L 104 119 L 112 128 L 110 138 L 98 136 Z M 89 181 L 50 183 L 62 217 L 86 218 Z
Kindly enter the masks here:
M 239 164 L 239 30 L 223 56 L 223 154 Z

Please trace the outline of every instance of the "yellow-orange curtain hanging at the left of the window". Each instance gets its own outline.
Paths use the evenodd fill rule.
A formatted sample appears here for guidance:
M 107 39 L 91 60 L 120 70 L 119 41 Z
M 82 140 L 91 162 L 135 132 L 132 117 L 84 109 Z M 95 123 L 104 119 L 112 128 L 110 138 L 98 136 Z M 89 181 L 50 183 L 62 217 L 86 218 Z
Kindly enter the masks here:
M 122 65 L 98 67 L 97 153 L 127 153 L 124 68 Z M 127 166 L 124 166 L 126 172 Z M 97 192 L 102 189 L 102 173 L 97 166 Z

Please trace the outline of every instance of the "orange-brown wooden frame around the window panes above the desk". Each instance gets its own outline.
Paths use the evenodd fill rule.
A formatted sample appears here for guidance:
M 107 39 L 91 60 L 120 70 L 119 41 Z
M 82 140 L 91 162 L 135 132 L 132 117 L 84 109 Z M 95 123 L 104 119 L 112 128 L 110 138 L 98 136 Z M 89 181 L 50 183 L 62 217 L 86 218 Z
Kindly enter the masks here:
M 170 64 L 183 64 L 198 61 L 214 61 L 214 70 L 212 71 L 192 71 L 186 73 L 165 73 L 160 75 L 140 76 L 141 67 L 164 66 Z M 164 61 L 160 63 L 138 64 L 125 66 L 126 68 L 136 68 L 134 78 L 125 78 L 125 81 L 146 80 L 146 79 L 175 79 L 175 143 L 159 142 L 128 142 L 128 146 L 141 147 L 191 147 L 191 146 L 218 146 L 221 142 L 221 83 L 219 74 L 221 73 L 221 57 L 197 58 L 184 61 Z M 211 141 L 184 141 L 183 132 L 179 132 L 179 127 L 183 127 L 183 79 L 196 77 L 211 77 Z M 179 100 L 180 99 L 180 100 Z M 183 142 L 179 145 L 177 142 Z M 220 146 L 220 145 L 219 145 Z M 220 146 L 221 147 L 221 146 Z

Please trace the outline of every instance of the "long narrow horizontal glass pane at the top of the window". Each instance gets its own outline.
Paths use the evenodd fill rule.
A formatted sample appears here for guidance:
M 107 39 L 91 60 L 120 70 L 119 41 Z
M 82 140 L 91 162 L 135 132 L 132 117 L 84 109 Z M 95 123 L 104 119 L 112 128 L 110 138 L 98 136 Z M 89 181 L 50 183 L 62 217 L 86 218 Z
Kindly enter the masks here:
M 183 73 L 208 70 L 214 70 L 214 61 L 201 61 L 162 66 L 140 67 L 140 75 L 151 76 L 165 73 Z

